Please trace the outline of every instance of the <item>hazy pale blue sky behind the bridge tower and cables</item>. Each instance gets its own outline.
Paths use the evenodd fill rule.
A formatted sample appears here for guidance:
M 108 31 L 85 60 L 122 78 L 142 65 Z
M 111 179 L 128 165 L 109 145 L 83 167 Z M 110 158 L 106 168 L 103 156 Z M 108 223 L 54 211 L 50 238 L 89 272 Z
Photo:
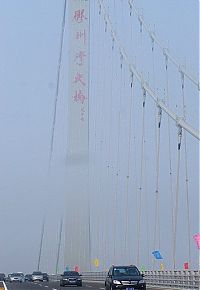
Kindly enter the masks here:
M 143 49 L 147 49 L 146 56 L 141 60 L 140 34 L 136 34 L 130 42 L 130 16 L 127 1 L 115 0 L 105 1 L 110 4 L 111 18 L 115 24 L 119 37 L 123 39 L 123 44 L 128 50 L 131 59 L 135 61 L 139 68 L 143 67 L 144 76 L 152 79 L 152 56 L 151 44 L 148 40 L 143 40 Z M 152 27 L 155 25 L 155 31 L 160 39 L 169 48 L 172 55 L 176 56 L 180 63 L 186 65 L 193 75 L 198 75 L 198 1 L 195 0 L 138 0 L 135 1 L 139 11 L 144 15 L 147 23 Z M 121 7 L 121 8 L 120 8 Z M 59 56 L 61 21 L 63 13 L 62 0 L 1 0 L 0 1 L 0 272 L 24 271 L 26 273 L 35 270 L 38 259 L 40 232 L 42 221 L 45 217 L 45 235 L 44 249 L 42 252 L 42 269 L 48 272 L 55 271 L 56 251 L 58 244 L 58 230 L 60 218 L 65 214 L 65 196 L 66 189 L 66 144 L 67 144 L 67 79 L 68 79 L 68 52 L 67 52 L 67 25 L 65 29 L 64 49 L 62 57 L 62 70 L 60 79 L 60 90 L 58 99 L 58 111 L 55 130 L 55 143 L 52 160 L 51 172 L 48 172 L 48 160 L 51 138 L 51 126 L 53 116 L 53 106 L 56 89 L 56 74 Z M 132 16 L 133 17 L 133 16 Z M 134 17 L 133 17 L 134 18 Z M 100 20 L 101 19 L 101 20 Z M 120 85 L 127 98 L 122 102 L 121 136 L 120 136 L 120 161 L 121 182 L 119 185 L 118 210 L 123 224 L 124 198 L 123 191 L 126 188 L 126 176 L 128 153 L 128 112 L 130 106 L 130 75 L 123 66 L 122 82 L 120 81 L 120 56 L 114 50 L 111 53 L 111 41 L 109 42 L 109 32 L 105 35 L 103 17 L 99 16 L 99 8 L 96 1 L 91 1 L 91 40 L 90 40 L 90 153 L 91 168 L 91 216 L 92 216 L 92 258 L 97 256 L 99 259 L 105 259 L 104 239 L 109 235 L 109 226 L 113 224 L 114 209 L 112 201 L 114 199 L 113 190 L 116 185 L 117 168 L 117 118 L 119 110 L 119 91 Z M 136 23 L 136 21 L 135 21 Z M 133 31 L 137 31 L 134 26 Z M 103 42 L 106 39 L 107 42 Z M 135 48 L 135 52 L 133 51 Z M 155 51 L 157 53 L 157 51 Z M 160 95 L 164 93 L 164 64 L 162 66 L 162 57 L 159 54 L 156 58 L 156 89 Z M 111 59 L 113 60 L 113 72 L 111 72 Z M 106 60 L 106 62 L 104 61 Z M 164 61 L 163 61 L 164 63 Z M 146 67 L 149 67 L 146 69 Z M 170 93 L 172 95 L 171 106 L 177 113 L 182 112 L 181 90 L 179 74 L 171 69 Z M 161 74 L 163 72 L 163 75 Z M 110 79 L 113 73 L 113 96 L 116 100 L 112 106 L 109 96 L 111 96 Z M 139 96 L 139 85 L 136 87 L 136 95 Z M 198 128 L 198 93 L 188 82 L 186 84 L 186 105 L 187 120 L 195 128 Z M 147 144 L 146 158 L 148 164 L 153 164 L 155 154 L 152 154 L 154 146 L 154 131 L 150 124 L 150 117 L 153 115 L 152 101 L 148 98 L 149 114 L 147 113 Z M 138 110 L 134 113 L 134 118 L 138 120 L 133 126 L 141 128 L 141 99 L 136 100 Z M 137 106 L 135 106 L 137 107 Z M 135 109 L 134 109 L 135 110 Z M 109 121 L 112 119 L 112 125 Z M 166 116 L 163 116 L 164 129 L 162 131 L 162 149 L 161 156 L 165 155 L 168 139 L 166 137 Z M 176 126 L 172 127 L 172 146 L 176 148 Z M 151 131 L 152 130 L 152 131 Z M 136 130 L 137 131 L 137 130 Z M 136 132 L 135 131 L 135 132 Z M 135 132 L 132 135 L 134 142 Z M 109 141 L 109 134 L 111 141 Z M 136 167 L 140 164 L 140 134 L 137 131 L 137 139 L 131 151 L 132 164 Z M 102 142 L 101 142 L 102 141 Z M 110 143 L 109 143 L 110 142 Z M 195 234 L 199 228 L 198 213 L 198 141 L 188 136 L 188 156 L 190 162 L 190 193 L 191 193 L 191 231 Z M 112 153 L 108 154 L 108 147 L 111 146 Z M 102 147 L 101 147 L 102 146 Z M 135 147 L 134 147 L 135 146 Z M 136 148 L 136 149 L 135 149 Z M 173 153 L 173 169 L 176 170 L 176 153 Z M 137 156 L 136 156 L 137 155 Z M 136 157 L 135 157 L 136 156 Z M 167 168 L 164 158 L 161 168 L 163 171 Z M 110 170 L 110 179 L 106 173 L 106 164 L 112 167 Z M 134 175 L 135 165 L 131 165 L 131 172 L 136 179 L 130 179 L 130 191 L 135 192 L 139 185 L 139 174 Z M 155 191 L 155 174 L 151 178 L 151 165 L 147 165 L 148 186 L 151 193 Z M 140 170 L 136 168 L 137 172 Z M 131 174 L 130 174 L 131 175 Z M 184 185 L 184 168 L 182 169 L 181 190 Z M 175 172 L 173 175 L 173 185 L 175 184 Z M 167 196 L 165 190 L 166 175 L 161 174 L 161 184 L 163 196 Z M 168 179 L 168 177 L 167 177 Z M 169 180 L 168 180 L 169 181 Z M 134 204 L 134 196 L 130 195 L 130 204 Z M 184 199 L 184 198 L 183 198 Z M 182 200 L 182 199 L 181 199 Z M 145 200 L 143 200 L 145 203 Z M 169 205 L 169 200 L 161 201 L 162 217 L 169 217 L 170 210 L 165 208 Z M 111 205 L 109 208 L 108 205 Z M 152 197 L 149 196 L 149 206 L 153 206 Z M 184 202 L 180 202 L 185 207 Z M 106 208 L 105 208 L 106 207 Z M 107 213 L 106 214 L 106 210 Z M 132 211 L 131 211 L 132 212 Z M 97 218 L 100 217 L 100 218 Z M 130 215 L 131 216 L 131 215 Z M 129 243 L 135 242 L 135 237 L 131 235 L 131 227 L 134 227 L 135 208 L 130 221 L 130 239 Z M 168 220 L 169 218 L 167 218 Z M 102 220 L 102 223 L 100 222 Z M 184 210 L 179 215 L 179 233 L 178 239 L 181 242 L 181 221 L 185 227 Z M 143 220 L 143 223 L 145 221 Z M 105 226 L 106 225 L 106 226 Z M 168 257 L 166 263 L 170 265 L 169 253 L 167 248 L 167 239 L 170 231 L 167 228 L 168 223 L 164 224 L 162 233 L 163 251 Z M 101 235 L 103 227 L 106 233 Z M 72 221 L 73 228 L 73 221 Z M 100 233 L 100 234 L 98 234 Z M 165 236 L 166 234 L 166 236 Z M 98 236 L 99 235 L 99 236 Z M 104 236 L 105 235 L 105 236 Z M 184 232 L 185 237 L 185 232 Z M 102 243 L 98 240 L 102 239 Z M 185 238 L 184 238 L 185 239 Z M 120 249 L 120 258 L 123 257 L 123 238 L 117 241 Z M 192 243 L 192 267 L 197 267 L 197 249 Z M 166 249 L 166 252 L 165 252 Z M 107 245 L 108 265 L 101 265 L 105 269 L 112 261 L 112 242 Z M 135 250 L 134 250 L 135 251 Z M 181 252 L 182 251 L 182 252 Z M 184 252 L 184 254 L 183 254 Z M 179 248 L 179 265 L 185 259 L 186 246 L 183 250 Z M 64 268 L 64 236 L 62 240 L 61 259 L 59 270 Z M 109 256 L 110 255 L 110 256 Z M 146 263 L 146 255 L 143 254 L 143 263 Z M 130 254 L 134 259 L 133 253 Z M 182 257 L 183 256 L 183 257 Z M 102 258 L 103 257 L 103 258 Z M 129 257 L 125 257 L 129 262 Z

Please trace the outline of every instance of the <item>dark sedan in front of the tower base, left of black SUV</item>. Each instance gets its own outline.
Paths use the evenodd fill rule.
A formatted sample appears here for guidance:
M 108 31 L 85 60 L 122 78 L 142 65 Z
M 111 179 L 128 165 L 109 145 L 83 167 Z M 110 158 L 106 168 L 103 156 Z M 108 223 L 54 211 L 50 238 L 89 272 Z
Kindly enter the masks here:
M 65 271 L 61 275 L 60 286 L 76 285 L 82 287 L 81 275 L 76 271 Z

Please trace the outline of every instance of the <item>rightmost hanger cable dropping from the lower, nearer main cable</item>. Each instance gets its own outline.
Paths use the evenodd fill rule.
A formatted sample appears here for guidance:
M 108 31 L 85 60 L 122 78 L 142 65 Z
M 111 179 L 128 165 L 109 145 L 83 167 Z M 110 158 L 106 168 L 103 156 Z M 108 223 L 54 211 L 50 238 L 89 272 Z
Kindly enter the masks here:
M 177 242 L 177 224 L 179 209 L 179 176 L 180 176 L 180 157 L 181 157 L 182 128 L 178 127 L 178 150 L 177 150 L 177 173 L 176 173 L 176 198 L 174 211 L 174 243 L 173 243 L 173 269 L 176 269 L 176 242 Z

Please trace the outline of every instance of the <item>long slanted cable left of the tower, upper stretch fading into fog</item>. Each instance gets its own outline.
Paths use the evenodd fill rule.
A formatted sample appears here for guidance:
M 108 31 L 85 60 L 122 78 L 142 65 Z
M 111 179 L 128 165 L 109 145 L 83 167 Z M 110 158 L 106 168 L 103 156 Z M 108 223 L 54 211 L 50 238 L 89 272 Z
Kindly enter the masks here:
M 50 154 L 49 154 L 49 170 L 51 168 L 51 160 L 52 160 L 54 137 L 55 137 L 55 125 L 56 125 L 56 114 L 57 114 L 57 104 L 58 104 L 58 93 L 59 93 L 59 87 L 60 87 L 60 71 L 61 71 L 62 51 L 63 51 L 64 31 L 65 31 L 65 16 L 66 16 L 66 0 L 64 1 L 63 19 L 62 19 L 62 31 L 61 31 L 61 36 L 60 36 L 60 53 L 59 53 L 59 59 L 58 59 L 56 94 L 55 94 L 54 112 L 53 112 L 53 123 L 52 123 L 52 129 L 51 129 L 51 144 L 50 144 Z

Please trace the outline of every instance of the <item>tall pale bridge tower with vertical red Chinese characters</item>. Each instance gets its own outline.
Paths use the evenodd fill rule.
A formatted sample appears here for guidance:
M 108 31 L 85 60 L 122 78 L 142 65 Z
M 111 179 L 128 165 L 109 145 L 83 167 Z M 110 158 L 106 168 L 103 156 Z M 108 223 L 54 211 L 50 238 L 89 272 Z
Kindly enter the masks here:
M 89 1 L 68 1 L 68 131 L 65 267 L 90 269 Z

